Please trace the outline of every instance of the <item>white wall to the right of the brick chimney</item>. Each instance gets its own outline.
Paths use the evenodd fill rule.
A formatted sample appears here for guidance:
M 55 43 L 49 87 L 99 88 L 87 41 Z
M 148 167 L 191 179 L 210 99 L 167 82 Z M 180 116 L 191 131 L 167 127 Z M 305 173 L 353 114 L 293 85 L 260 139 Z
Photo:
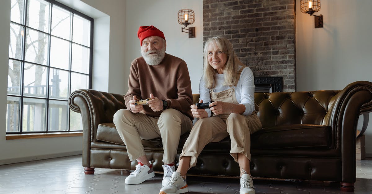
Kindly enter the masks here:
M 322 0 L 324 28 L 296 0 L 297 91 L 341 90 L 354 81 L 372 81 L 372 1 Z M 366 153 L 372 156 L 372 115 Z M 362 119 L 359 119 L 361 122 Z M 359 127 L 360 129 L 361 127 Z

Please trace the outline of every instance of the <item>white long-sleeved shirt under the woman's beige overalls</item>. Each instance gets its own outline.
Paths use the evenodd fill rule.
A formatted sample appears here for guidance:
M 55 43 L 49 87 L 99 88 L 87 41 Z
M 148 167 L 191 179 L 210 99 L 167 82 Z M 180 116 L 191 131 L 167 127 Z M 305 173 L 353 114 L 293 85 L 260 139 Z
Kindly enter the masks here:
M 239 66 L 240 69 L 242 66 Z M 213 89 L 213 92 L 221 92 L 224 90 L 230 89 L 228 85 L 222 85 L 224 83 L 224 74 L 216 74 L 216 87 Z M 239 104 L 243 104 L 246 107 L 244 115 L 250 115 L 254 111 L 254 78 L 253 72 L 249 67 L 245 67 L 240 74 L 240 78 L 236 87 L 232 86 L 235 89 L 235 97 Z M 211 101 L 211 96 L 209 95 L 209 89 L 205 87 L 205 82 L 203 76 L 200 79 L 199 83 L 199 94 L 200 100 L 203 100 L 204 103 Z M 208 117 L 211 117 L 211 110 L 205 109 L 208 113 Z

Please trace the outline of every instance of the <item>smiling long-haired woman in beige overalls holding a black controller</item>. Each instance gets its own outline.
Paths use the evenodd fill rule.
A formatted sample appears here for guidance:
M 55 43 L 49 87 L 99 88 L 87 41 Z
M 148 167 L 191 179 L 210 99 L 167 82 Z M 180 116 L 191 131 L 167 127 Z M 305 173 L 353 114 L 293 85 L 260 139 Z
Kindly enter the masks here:
M 208 39 L 204 47 L 204 72 L 200 80 L 200 101 L 208 109 L 191 105 L 196 121 L 180 155 L 177 171 L 160 194 L 188 191 L 187 170 L 196 165 L 202 149 L 209 142 L 230 136 L 230 155 L 240 166 L 240 194 L 254 194 L 250 175 L 250 134 L 261 129 L 254 104 L 254 79 L 250 68 L 237 58 L 231 43 L 223 37 Z

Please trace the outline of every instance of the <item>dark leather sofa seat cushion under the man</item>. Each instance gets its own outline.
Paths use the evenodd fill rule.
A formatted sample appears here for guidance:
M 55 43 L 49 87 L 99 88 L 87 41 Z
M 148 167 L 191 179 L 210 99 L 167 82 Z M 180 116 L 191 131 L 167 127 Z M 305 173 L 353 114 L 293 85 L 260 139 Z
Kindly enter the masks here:
M 101 123 L 97 128 L 97 140 L 109 143 L 116 143 L 119 145 L 125 145 L 121 140 L 118 130 L 116 130 L 114 123 Z M 161 138 L 144 140 L 142 139 L 142 145 L 148 148 L 161 148 L 163 147 Z

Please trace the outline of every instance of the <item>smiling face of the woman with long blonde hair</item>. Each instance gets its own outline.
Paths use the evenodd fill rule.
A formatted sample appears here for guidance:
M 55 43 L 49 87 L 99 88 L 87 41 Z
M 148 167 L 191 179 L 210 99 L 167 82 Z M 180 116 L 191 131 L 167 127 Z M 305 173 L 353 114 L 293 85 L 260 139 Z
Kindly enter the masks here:
M 208 45 L 207 54 L 209 65 L 216 69 L 218 74 L 223 74 L 227 62 L 227 54 L 222 53 L 222 51 L 214 44 Z

